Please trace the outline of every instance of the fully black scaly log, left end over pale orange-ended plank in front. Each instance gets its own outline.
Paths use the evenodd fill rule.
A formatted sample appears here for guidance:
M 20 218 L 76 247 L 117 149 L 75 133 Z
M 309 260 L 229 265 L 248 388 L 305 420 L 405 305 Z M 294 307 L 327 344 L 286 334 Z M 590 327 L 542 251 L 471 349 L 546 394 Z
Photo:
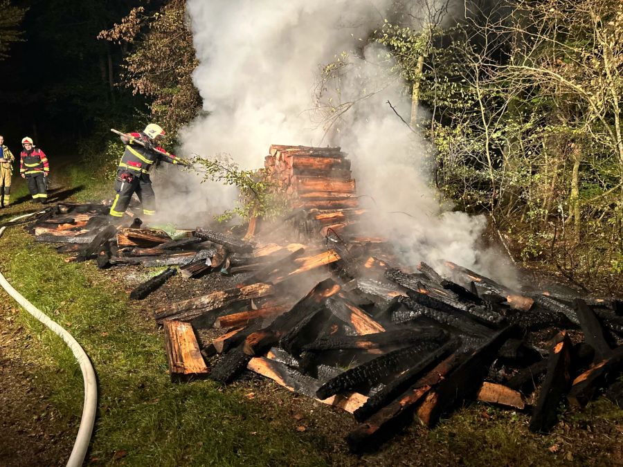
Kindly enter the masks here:
M 356 390 L 362 385 L 374 385 L 389 376 L 417 365 L 422 360 L 423 354 L 429 354 L 439 347 L 437 342 L 418 342 L 413 347 L 391 351 L 357 367 L 347 369 L 318 388 L 316 396 L 319 399 L 327 399 L 333 394 Z

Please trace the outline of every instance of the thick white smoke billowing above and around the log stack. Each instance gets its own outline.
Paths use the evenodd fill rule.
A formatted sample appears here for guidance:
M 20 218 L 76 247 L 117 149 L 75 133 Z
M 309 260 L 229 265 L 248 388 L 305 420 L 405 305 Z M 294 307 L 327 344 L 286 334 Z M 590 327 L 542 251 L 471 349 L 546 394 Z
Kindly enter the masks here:
M 253 168 L 263 165 L 271 144 L 340 145 L 352 160 L 362 201 L 374 212 L 375 233 L 399 241 L 413 263 L 440 268 L 450 259 L 508 282 L 509 274 L 492 271 L 490 257 L 478 248 L 485 219 L 442 210 L 423 170 L 424 142 L 387 103 L 409 119 L 410 96 L 401 80 L 388 77 L 386 51 L 366 45 L 370 33 L 383 26 L 390 3 L 188 0 L 199 59 L 193 77 L 209 114 L 181 131 L 181 154 L 227 153 Z M 347 57 L 339 93 L 327 86 L 325 96 L 359 102 L 326 134 L 309 110 L 321 67 L 343 51 L 357 53 Z M 176 186 L 188 185 L 186 177 Z M 197 184 L 188 188 L 184 203 L 216 210 L 234 197 L 233 190 Z M 183 211 L 178 199 L 166 198 L 159 198 L 161 206 Z

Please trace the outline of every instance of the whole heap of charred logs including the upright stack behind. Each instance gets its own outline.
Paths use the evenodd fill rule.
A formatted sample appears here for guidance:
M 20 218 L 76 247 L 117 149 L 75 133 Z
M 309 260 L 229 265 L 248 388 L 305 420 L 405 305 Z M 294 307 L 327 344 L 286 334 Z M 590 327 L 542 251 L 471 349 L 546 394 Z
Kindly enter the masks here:
M 305 216 L 333 222 L 358 209 L 325 204 L 354 194 L 339 148 L 272 146 L 267 167 Z M 346 189 L 343 181 L 352 192 L 334 190 Z M 260 374 L 352 413 L 353 452 L 377 448 L 414 418 L 432 427 L 470 401 L 523 411 L 530 430 L 547 432 L 561 404 L 585 405 L 604 391 L 620 397 L 621 300 L 509 289 L 452 262 L 411 269 L 382 241 L 331 237 L 329 221 L 316 241 L 279 245 L 199 227 L 172 239 L 136 219 L 110 226 L 106 212 L 57 205 L 30 230 L 64 244 L 66 261 L 177 266 L 141 284 L 138 300 L 176 273 L 239 274 L 231 288 L 150 304 L 172 381 Z

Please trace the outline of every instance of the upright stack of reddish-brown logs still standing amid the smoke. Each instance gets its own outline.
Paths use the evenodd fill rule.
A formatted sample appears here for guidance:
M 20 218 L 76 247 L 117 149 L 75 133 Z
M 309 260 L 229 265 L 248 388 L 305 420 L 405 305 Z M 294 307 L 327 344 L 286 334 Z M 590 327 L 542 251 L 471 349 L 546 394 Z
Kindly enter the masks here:
M 312 230 L 326 235 L 356 223 L 361 214 L 350 160 L 339 147 L 271 145 L 264 167 L 269 180 L 308 213 Z M 334 222 L 327 222 L 338 213 Z

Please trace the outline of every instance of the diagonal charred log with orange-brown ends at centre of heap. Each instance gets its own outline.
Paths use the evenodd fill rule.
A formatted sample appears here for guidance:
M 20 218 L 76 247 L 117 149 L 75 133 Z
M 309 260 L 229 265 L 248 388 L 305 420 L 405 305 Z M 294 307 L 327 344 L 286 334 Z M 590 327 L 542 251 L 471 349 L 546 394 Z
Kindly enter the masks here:
M 316 310 L 325 298 L 340 291 L 340 286 L 328 279 L 318 283 L 305 297 L 300 299 L 292 308 L 279 315 L 268 327 L 249 334 L 244 342 L 244 352 L 251 356 L 258 356 L 276 344 L 278 340 L 303 320 L 310 310 Z

